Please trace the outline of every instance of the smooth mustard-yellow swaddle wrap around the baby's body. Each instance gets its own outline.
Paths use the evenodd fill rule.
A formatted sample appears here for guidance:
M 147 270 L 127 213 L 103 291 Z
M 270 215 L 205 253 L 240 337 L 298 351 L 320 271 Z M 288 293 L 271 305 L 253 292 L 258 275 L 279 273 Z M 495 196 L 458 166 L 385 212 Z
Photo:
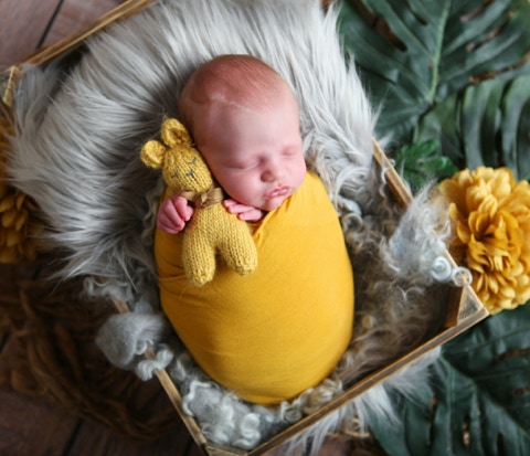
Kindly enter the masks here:
M 274 404 L 324 380 L 352 336 L 353 275 L 321 181 L 303 185 L 253 233 L 258 266 L 220 264 L 209 284 L 186 278 L 182 235 L 157 230 L 162 308 L 195 361 L 239 396 Z

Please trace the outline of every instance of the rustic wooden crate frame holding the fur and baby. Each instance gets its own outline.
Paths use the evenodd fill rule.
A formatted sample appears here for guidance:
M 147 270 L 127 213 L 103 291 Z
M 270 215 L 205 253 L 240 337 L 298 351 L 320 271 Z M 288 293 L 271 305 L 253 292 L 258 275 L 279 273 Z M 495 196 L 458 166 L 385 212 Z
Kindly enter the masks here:
M 28 60 L 28 63 L 45 65 L 55 57 L 66 55 L 67 53 L 81 46 L 86 38 L 98 32 L 99 30 L 104 29 L 106 25 L 110 24 L 116 20 L 121 20 L 140 11 L 147 4 L 151 3 L 151 1 L 152 0 L 128 0 L 108 12 L 107 14 L 103 15 L 98 21 L 94 22 L 93 24 L 82 29 L 77 33 L 60 41 L 59 43 L 36 53 Z M 3 115 L 3 117 L 8 120 L 11 118 L 10 107 L 12 102 L 12 89 L 14 87 L 14 84 L 17 83 L 19 73 L 20 70 L 17 66 L 11 67 L 2 75 L 0 79 L 0 94 L 3 94 L 0 103 L 1 115 Z M 373 153 L 380 168 L 382 170 L 385 170 L 386 182 L 396 203 L 403 206 L 407 206 L 412 200 L 412 195 L 375 141 L 373 147 Z M 456 266 L 454 259 L 448 253 L 446 254 L 446 257 L 453 265 Z M 480 304 L 475 291 L 468 284 L 462 288 L 454 288 L 449 286 L 447 287 L 451 288 L 451 290 L 448 291 L 449 300 L 447 303 L 446 321 L 442 326 L 442 329 L 434 337 L 421 343 L 418 347 L 403 354 L 401 358 L 391 362 L 390 364 L 384 365 L 377 371 L 368 374 L 362 380 L 348 388 L 341 395 L 333 399 L 326 405 L 321 406 L 315 413 L 290 425 L 283 432 L 273 436 L 272 438 L 252 450 L 242 450 L 208 442 L 202 434 L 198 423 L 183 412 L 182 397 L 178 391 L 178 388 L 170 379 L 169 374 L 166 371 L 159 371 L 157 372 L 157 377 L 160 380 L 163 389 L 168 393 L 168 396 L 174 405 L 178 414 L 186 424 L 188 431 L 190 432 L 199 447 L 201 447 L 206 455 L 262 455 L 284 444 L 293 436 L 305 431 L 308 426 L 314 425 L 319 420 L 333 413 L 356 396 L 379 384 L 386 378 L 407 367 L 422 356 L 447 342 L 457 335 L 466 331 L 468 328 L 476 325 L 478 321 L 483 320 L 488 316 L 487 310 Z M 120 312 L 129 311 L 127 304 L 125 303 L 115 301 L 115 305 L 117 310 Z M 147 357 L 155 357 L 155 354 L 151 351 L 150 353 L 147 353 Z

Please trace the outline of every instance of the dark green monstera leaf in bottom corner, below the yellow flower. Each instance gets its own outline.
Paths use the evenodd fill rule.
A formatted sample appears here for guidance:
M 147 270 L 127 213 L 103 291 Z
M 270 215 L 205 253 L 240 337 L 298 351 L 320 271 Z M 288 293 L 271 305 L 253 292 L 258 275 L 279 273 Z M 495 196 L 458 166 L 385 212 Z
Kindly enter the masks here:
M 402 425 L 372 432 L 391 456 L 527 456 L 530 450 L 530 306 L 505 311 L 444 346 L 421 403 Z

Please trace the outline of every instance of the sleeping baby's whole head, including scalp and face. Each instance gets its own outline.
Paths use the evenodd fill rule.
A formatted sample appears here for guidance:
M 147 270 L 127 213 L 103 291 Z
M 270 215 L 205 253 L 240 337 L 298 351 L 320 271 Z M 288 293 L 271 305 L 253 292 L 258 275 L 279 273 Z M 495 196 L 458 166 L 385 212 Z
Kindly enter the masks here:
M 187 83 L 179 110 L 232 199 L 272 211 L 304 181 L 298 105 L 262 61 L 223 55 L 208 62 Z

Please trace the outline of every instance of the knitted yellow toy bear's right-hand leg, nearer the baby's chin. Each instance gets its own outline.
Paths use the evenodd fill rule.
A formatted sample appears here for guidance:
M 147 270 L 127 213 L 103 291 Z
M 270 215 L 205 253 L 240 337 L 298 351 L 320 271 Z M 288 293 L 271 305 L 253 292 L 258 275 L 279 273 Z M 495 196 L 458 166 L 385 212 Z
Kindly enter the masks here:
M 257 251 L 248 226 L 234 220 L 230 227 L 234 233 L 230 240 L 223 240 L 219 250 L 226 264 L 237 274 L 246 276 L 257 266 Z

